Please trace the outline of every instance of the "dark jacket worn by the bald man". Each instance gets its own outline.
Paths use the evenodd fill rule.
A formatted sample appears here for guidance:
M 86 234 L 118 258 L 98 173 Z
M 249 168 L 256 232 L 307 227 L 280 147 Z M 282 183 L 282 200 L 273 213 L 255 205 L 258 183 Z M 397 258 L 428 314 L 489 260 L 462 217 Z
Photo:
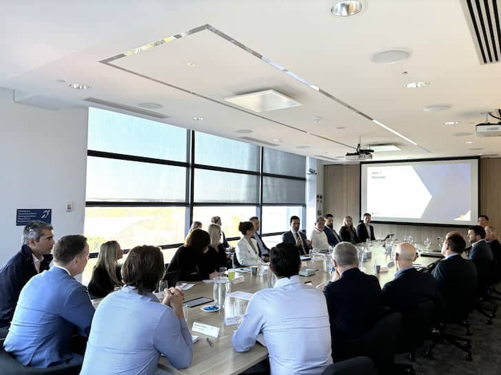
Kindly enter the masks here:
M 382 288 L 382 301 L 393 311 L 406 312 L 416 308 L 422 301 L 431 300 L 435 310 L 440 309 L 441 300 L 435 279 L 429 273 L 409 268 Z

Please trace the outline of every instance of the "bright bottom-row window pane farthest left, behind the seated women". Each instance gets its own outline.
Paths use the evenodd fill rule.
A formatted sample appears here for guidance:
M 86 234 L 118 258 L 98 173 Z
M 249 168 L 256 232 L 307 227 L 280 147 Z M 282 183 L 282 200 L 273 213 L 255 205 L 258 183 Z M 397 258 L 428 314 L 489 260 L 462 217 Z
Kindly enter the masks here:
M 180 244 L 185 213 L 185 207 L 87 207 L 83 233 L 91 253 L 111 239 L 122 248 Z

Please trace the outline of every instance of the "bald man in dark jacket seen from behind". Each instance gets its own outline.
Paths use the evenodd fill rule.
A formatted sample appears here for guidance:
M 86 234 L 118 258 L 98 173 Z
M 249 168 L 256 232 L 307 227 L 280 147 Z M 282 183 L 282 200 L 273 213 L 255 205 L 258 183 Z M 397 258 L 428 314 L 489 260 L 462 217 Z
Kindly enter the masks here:
M 392 311 L 405 312 L 416 308 L 421 301 L 430 300 L 440 308 L 440 294 L 435 279 L 429 273 L 418 272 L 413 267 L 416 248 L 407 242 L 395 249 L 395 278 L 382 288 L 382 301 Z

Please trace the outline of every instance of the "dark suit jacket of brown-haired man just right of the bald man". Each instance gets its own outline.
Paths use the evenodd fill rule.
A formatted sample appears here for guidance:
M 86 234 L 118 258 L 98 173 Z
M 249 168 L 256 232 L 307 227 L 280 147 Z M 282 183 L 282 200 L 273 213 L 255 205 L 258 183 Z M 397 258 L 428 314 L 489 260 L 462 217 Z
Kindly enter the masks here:
M 473 262 L 454 255 L 439 261 L 432 275 L 442 296 L 442 317 L 464 319 L 476 299 L 477 270 Z

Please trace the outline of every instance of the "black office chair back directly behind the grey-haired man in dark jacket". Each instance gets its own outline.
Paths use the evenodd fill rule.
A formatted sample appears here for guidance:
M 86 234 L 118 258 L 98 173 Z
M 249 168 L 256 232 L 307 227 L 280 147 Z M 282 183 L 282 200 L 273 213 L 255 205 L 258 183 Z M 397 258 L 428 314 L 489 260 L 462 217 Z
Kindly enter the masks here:
M 377 321 L 369 332 L 358 339 L 340 345 L 334 343 L 334 362 L 356 356 L 368 356 L 374 361 L 378 374 L 393 374 L 394 356 L 401 324 L 402 314 L 391 312 Z

